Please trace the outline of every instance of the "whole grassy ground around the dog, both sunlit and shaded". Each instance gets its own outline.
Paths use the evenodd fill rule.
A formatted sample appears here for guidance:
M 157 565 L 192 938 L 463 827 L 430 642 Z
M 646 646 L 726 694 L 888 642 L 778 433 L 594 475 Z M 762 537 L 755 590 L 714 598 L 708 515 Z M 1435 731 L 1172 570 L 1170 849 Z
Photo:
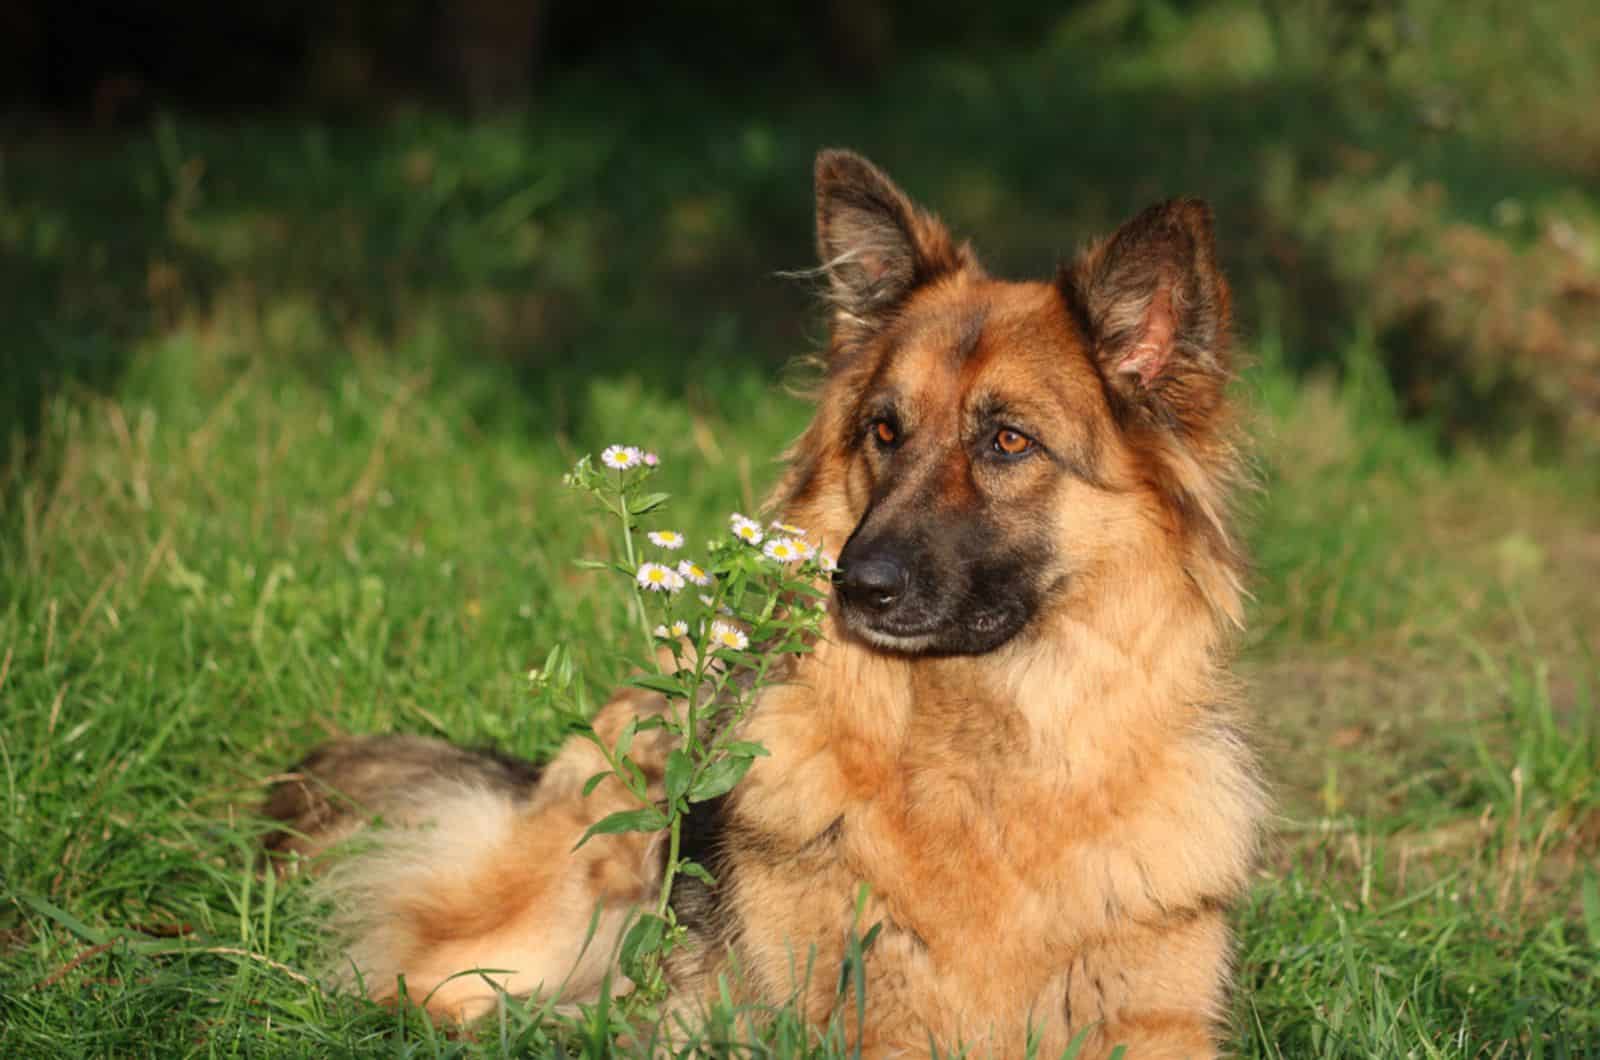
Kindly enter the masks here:
M 552 644 L 618 677 L 627 615 L 568 562 L 603 543 L 560 474 L 650 444 L 691 536 L 771 482 L 806 415 L 781 365 L 816 338 L 771 274 L 810 256 L 819 143 L 1014 272 L 1146 199 L 1218 202 L 1266 485 L 1242 671 L 1280 810 L 1238 913 L 1238 1055 L 1600 1054 L 1594 450 L 1486 397 L 1490 440 L 1410 416 L 1363 309 L 1394 258 L 1349 245 L 1429 183 L 1438 224 L 1515 197 L 1587 231 L 1584 96 L 1557 61 L 1498 88 L 1526 42 L 1430 5 L 1429 50 L 1320 80 L 1250 8 L 1157 8 L 922 58 L 870 101 L 573 74 L 480 125 L 165 118 L 8 154 L 0 1054 L 613 1049 L 606 1014 L 458 1038 L 323 993 L 317 909 L 254 871 L 251 807 L 330 733 L 549 754 L 523 674 Z M 1419 138 L 1397 101 L 1440 69 L 1467 102 Z M 709 1041 L 750 1034 L 726 1018 Z M 786 1015 L 765 1046 L 805 1041 Z

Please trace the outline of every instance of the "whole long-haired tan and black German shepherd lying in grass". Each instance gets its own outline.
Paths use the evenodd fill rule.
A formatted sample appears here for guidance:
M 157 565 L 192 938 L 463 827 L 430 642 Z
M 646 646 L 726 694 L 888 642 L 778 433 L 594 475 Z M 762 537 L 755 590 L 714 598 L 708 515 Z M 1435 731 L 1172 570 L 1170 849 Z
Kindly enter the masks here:
M 770 511 L 842 543 L 840 572 L 814 653 L 742 722 L 770 757 L 688 821 L 715 884 L 674 887 L 672 1004 L 699 1010 L 725 977 L 738 1002 L 840 1018 L 862 1055 L 1050 1057 L 1078 1036 L 1085 1057 L 1214 1055 L 1264 796 L 1226 669 L 1242 461 L 1210 210 L 1150 207 L 1006 282 L 824 151 L 816 229 L 826 376 Z M 614 741 L 661 709 L 627 690 L 594 724 Z M 659 781 L 651 738 L 632 754 Z M 269 845 L 402 825 L 328 876 L 373 998 L 403 977 L 462 1020 L 498 991 L 584 999 L 618 982 L 664 861 L 640 834 L 574 850 L 634 805 L 614 780 L 584 794 L 605 769 L 578 740 L 542 770 L 346 740 L 275 788 Z M 859 1026 L 834 975 L 856 924 L 880 925 Z M 509 970 L 451 978 L 475 967 Z

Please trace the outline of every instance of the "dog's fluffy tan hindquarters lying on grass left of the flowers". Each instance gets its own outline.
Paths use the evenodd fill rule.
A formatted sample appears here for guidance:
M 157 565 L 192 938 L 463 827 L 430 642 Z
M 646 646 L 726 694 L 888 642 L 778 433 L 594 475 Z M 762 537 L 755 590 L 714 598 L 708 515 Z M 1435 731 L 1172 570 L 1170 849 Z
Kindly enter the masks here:
M 597 732 L 635 706 L 614 703 Z M 317 871 L 346 945 L 338 978 L 378 1001 L 405 993 L 461 1020 L 501 993 L 584 1001 L 613 974 L 632 908 L 661 879 L 654 836 L 578 845 L 594 821 L 638 805 L 616 780 L 584 794 L 605 770 L 587 741 L 538 770 L 418 737 L 342 740 L 272 789 L 266 812 L 282 826 L 267 849 L 280 871 Z

